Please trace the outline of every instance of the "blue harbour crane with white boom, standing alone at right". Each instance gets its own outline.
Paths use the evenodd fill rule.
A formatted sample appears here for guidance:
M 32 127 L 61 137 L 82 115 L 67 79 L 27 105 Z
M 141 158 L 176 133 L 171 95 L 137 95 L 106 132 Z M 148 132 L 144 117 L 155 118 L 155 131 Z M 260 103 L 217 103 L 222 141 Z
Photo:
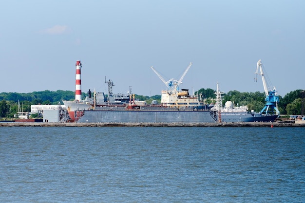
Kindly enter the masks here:
M 260 70 L 260 73 L 258 73 L 259 70 Z M 262 76 L 264 91 L 265 91 L 265 95 L 266 95 L 266 99 L 265 99 L 266 104 L 265 104 L 265 107 L 262 109 L 261 113 L 263 113 L 265 111 L 266 114 L 268 114 L 269 112 L 271 112 L 273 114 L 274 111 L 276 111 L 276 114 L 280 115 L 280 111 L 277 108 L 277 104 L 279 102 L 279 97 L 276 96 L 277 93 L 276 93 L 275 87 L 269 86 L 269 83 L 267 83 L 267 81 L 265 79 L 261 59 L 258 60 L 258 62 L 257 62 L 256 72 L 254 74 L 259 74 Z

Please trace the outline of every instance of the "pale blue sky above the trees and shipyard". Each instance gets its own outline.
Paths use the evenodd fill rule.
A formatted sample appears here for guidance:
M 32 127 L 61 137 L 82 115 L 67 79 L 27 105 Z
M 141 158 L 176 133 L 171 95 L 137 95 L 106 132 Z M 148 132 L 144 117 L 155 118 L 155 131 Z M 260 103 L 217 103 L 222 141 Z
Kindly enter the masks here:
M 0 92 L 305 89 L 304 0 L 2 0 Z M 265 73 L 266 72 L 266 73 Z M 257 80 L 255 79 L 257 78 Z

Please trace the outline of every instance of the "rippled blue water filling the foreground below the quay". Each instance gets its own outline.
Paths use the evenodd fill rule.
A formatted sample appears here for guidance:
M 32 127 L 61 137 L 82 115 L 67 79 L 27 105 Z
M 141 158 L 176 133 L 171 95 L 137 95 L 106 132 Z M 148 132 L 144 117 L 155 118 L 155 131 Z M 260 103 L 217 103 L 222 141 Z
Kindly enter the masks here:
M 0 202 L 305 202 L 304 128 L 1 127 Z

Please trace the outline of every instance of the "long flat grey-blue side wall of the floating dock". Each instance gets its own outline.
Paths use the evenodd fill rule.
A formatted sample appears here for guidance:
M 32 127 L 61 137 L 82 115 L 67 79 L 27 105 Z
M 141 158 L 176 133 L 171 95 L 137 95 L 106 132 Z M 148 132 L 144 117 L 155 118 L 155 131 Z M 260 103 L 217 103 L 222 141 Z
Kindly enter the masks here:
M 82 111 L 79 123 L 216 123 L 216 111 Z

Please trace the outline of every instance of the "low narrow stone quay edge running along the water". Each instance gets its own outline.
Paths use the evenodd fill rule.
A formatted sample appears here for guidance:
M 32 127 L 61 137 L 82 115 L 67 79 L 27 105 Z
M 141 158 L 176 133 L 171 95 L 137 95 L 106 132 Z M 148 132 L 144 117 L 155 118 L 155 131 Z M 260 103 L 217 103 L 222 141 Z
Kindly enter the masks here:
M 0 122 L 0 127 L 305 127 L 296 123 L 41 123 Z

